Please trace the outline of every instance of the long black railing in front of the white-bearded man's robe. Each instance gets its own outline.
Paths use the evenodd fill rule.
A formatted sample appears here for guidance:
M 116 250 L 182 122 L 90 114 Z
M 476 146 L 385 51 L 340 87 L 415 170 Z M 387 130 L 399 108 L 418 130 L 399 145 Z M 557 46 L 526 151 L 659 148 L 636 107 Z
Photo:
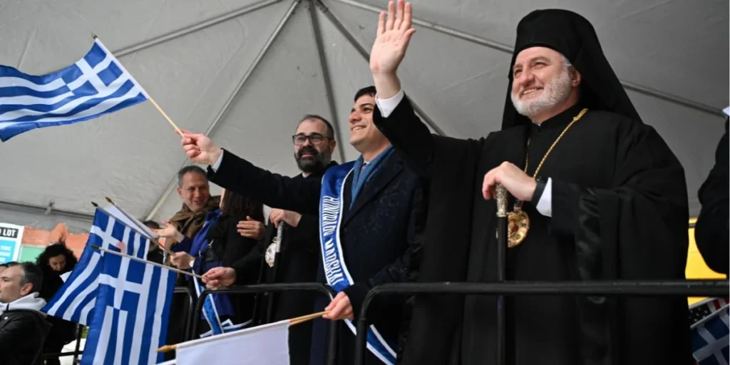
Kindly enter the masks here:
M 366 348 L 367 310 L 382 294 L 461 295 L 595 295 L 595 296 L 728 296 L 728 280 L 586 281 L 503 283 L 394 283 L 372 288 L 362 304 L 357 324 L 355 359 L 362 365 Z

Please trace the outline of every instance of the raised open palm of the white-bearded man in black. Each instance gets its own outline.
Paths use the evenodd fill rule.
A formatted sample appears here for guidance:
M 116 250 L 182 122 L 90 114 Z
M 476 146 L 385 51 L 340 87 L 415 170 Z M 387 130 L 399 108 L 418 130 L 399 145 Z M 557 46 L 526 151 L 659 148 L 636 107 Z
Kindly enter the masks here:
M 373 74 L 395 74 L 403 61 L 410 37 L 415 33 L 411 28 L 411 4 L 398 0 L 395 12 L 393 1 L 388 2 L 388 19 L 385 12 L 380 13 L 377 22 L 377 37 L 370 52 L 370 71 Z

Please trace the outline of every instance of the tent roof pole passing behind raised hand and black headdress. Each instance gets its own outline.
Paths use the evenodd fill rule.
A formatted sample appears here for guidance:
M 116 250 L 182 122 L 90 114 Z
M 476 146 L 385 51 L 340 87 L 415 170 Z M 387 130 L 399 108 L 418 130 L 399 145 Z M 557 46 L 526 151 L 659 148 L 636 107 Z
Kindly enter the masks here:
M 356 7 L 358 9 L 367 10 L 369 12 L 374 12 L 375 14 L 380 14 L 380 12 L 384 10 L 384 9 L 380 9 L 378 7 L 374 7 L 370 4 L 363 4 L 360 1 L 356 1 L 356 0 L 333 0 L 333 1 L 338 1 L 338 2 L 341 2 L 342 4 L 347 4 L 347 5 L 350 5 L 351 7 Z M 512 54 L 512 51 L 514 50 L 514 47 L 512 47 L 510 45 L 505 45 L 504 43 L 496 42 L 495 40 L 492 40 L 492 39 L 477 37 L 473 34 L 469 34 L 464 31 L 458 31 L 454 28 L 449 28 L 446 26 L 439 26 L 436 23 L 429 22 L 426 20 L 413 18 L 412 23 L 415 25 L 421 26 L 423 28 L 430 29 L 432 31 L 437 31 L 442 34 L 447 34 L 448 36 L 451 36 L 451 37 L 463 39 L 466 42 L 472 42 L 477 45 L 482 45 L 484 47 L 492 48 L 494 50 L 500 50 L 504 53 L 509 53 L 510 55 Z M 505 78 L 506 77 L 507 76 L 505 73 Z M 656 99 L 669 101 L 672 104 L 678 104 L 678 105 L 682 105 L 683 107 L 688 107 L 690 109 L 699 110 L 700 112 L 706 112 L 710 115 L 719 115 L 724 118 L 722 110 L 715 108 L 715 107 L 710 107 L 710 105 L 707 105 L 707 104 L 702 104 L 702 103 L 699 103 L 694 100 L 686 99 L 686 98 L 683 98 L 682 96 L 664 93 L 663 91 L 658 91 L 656 89 L 649 88 L 648 86 L 644 86 L 644 85 L 638 85 L 638 84 L 635 84 L 634 82 L 621 80 L 621 85 L 623 85 L 623 87 L 626 88 L 627 90 L 635 91 L 637 93 L 642 93 L 647 96 L 652 96 Z

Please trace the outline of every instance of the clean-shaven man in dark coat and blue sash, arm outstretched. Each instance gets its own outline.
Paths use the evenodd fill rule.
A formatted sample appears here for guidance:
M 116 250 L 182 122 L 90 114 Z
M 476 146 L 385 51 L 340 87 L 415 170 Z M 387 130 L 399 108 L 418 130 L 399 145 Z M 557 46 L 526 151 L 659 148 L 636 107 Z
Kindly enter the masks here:
M 211 165 L 213 183 L 269 207 L 320 216 L 318 280 L 334 288 L 337 296 L 316 301 L 314 310 L 328 310 L 326 319 L 343 320 L 338 364 L 352 364 L 354 320 L 369 288 L 409 280 L 420 248 L 415 239 L 422 216 L 418 177 L 372 123 L 374 96 L 373 87 L 358 91 L 350 112 L 350 144 L 360 158 L 329 168 L 322 180 L 293 180 L 259 169 L 202 134 L 186 133 L 183 138 L 191 160 Z M 380 298 L 369 310 L 374 336 L 369 336 L 366 364 L 395 364 L 404 301 L 399 296 Z M 326 363 L 327 328 L 326 320 L 314 324 L 312 365 Z

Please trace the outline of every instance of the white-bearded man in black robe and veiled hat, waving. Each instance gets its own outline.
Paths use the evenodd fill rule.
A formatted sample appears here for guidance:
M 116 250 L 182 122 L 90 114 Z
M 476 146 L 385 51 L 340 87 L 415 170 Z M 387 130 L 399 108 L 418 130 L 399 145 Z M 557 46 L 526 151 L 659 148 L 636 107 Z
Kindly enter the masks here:
M 420 282 L 495 282 L 493 188 L 510 192 L 507 280 L 683 280 L 683 167 L 642 123 L 580 15 L 531 12 L 517 28 L 502 130 L 431 135 L 396 76 L 411 7 L 380 15 L 374 123 L 430 180 Z M 496 364 L 496 296 L 417 296 L 401 364 Z M 681 297 L 513 296 L 506 364 L 691 364 Z

